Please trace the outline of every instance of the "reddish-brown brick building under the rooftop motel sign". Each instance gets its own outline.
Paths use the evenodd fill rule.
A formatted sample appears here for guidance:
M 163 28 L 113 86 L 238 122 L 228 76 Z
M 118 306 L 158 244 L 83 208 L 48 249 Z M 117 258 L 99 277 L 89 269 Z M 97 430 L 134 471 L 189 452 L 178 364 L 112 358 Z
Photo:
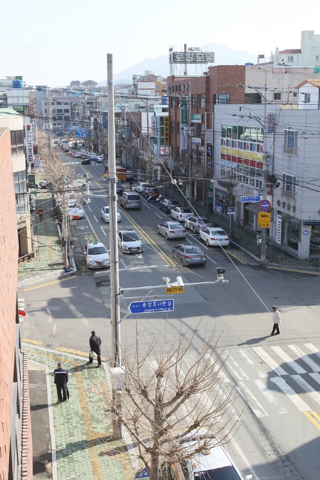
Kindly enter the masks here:
M 206 158 L 206 149 L 211 145 L 213 151 L 213 116 L 214 108 L 221 103 L 244 103 L 244 88 L 237 84 L 245 84 L 245 65 L 216 65 L 208 67 L 201 76 L 169 76 L 167 78 L 167 94 L 169 97 L 169 125 L 171 156 L 174 170 L 179 177 L 188 175 L 189 152 L 181 153 L 181 100 L 187 101 L 191 114 L 192 132 L 192 177 L 193 195 L 203 205 L 207 204 L 207 185 L 203 176 L 211 177 L 213 173 L 213 157 Z M 188 115 L 189 115 L 188 113 Z M 189 118 L 189 116 L 188 116 Z M 205 132 L 211 130 L 207 136 Z M 198 180 L 196 180 L 198 179 Z

